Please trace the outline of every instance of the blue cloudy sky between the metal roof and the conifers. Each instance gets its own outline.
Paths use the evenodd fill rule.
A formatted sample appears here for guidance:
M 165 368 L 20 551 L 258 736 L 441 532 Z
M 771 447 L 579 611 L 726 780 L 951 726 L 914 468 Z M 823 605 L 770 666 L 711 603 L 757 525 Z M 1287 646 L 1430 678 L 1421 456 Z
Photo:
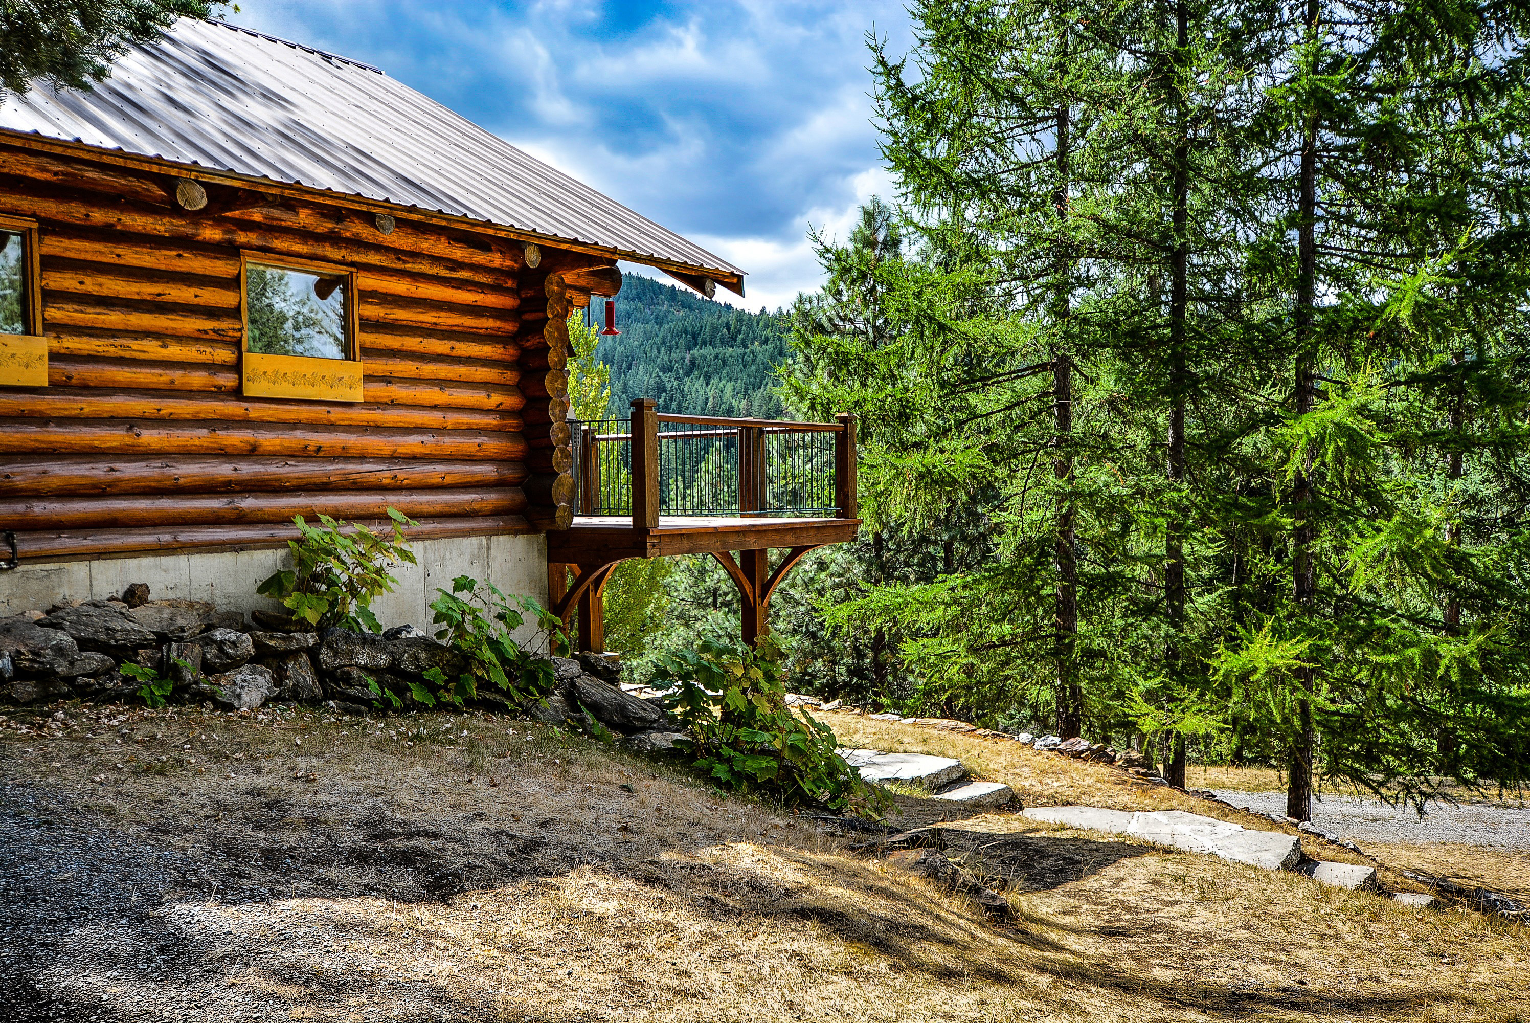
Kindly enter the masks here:
M 239 6 L 230 21 L 376 64 L 742 266 L 750 308 L 817 286 L 809 224 L 842 236 L 890 191 L 864 34 L 906 51 L 898 2 Z

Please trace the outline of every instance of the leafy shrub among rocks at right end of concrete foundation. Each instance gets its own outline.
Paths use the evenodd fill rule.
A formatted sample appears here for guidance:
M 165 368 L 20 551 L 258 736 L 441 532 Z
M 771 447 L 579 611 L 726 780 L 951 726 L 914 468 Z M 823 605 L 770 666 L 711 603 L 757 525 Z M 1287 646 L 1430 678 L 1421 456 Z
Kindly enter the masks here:
M 470 576 L 451 580 L 451 593 L 436 590 L 431 600 L 433 622 L 441 629 L 436 639 L 461 652 L 468 660 L 468 671 L 456 678 L 447 678 L 439 668 L 425 672 L 435 692 L 421 685 L 412 686 L 412 695 L 425 706 L 436 701 L 461 704 L 474 698 L 480 686 L 490 685 L 511 700 L 542 697 L 552 691 L 552 662 L 522 648 L 511 632 L 525 623 L 529 613 L 548 652 L 566 654 L 569 643 L 563 634 L 563 622 L 529 597 L 506 597 L 493 583 L 479 582 Z

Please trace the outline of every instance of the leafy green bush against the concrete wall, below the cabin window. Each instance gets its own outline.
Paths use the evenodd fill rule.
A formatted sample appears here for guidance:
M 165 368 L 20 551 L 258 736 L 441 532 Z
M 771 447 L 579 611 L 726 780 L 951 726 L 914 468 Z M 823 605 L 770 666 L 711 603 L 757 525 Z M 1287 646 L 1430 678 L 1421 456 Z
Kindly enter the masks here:
M 372 600 L 393 593 L 398 585 L 389 568 L 416 564 L 404 541 L 404 527 L 415 522 L 395 508 L 387 513 L 392 533 L 373 533 L 366 525 L 338 522 L 327 515 L 318 516 L 320 525 L 294 516 L 301 539 L 288 541 L 292 571 L 275 573 L 256 593 L 280 600 L 294 619 L 320 629 L 381 632 Z

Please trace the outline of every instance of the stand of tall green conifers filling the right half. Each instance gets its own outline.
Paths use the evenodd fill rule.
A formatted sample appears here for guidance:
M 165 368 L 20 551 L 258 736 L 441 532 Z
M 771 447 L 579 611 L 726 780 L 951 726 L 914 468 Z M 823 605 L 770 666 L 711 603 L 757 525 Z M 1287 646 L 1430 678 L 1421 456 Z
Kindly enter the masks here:
M 815 239 L 783 380 L 861 413 L 897 557 L 794 651 L 886 637 L 883 700 L 1293 784 L 1521 780 L 1530 9 L 910 14 L 872 66 L 901 205 Z

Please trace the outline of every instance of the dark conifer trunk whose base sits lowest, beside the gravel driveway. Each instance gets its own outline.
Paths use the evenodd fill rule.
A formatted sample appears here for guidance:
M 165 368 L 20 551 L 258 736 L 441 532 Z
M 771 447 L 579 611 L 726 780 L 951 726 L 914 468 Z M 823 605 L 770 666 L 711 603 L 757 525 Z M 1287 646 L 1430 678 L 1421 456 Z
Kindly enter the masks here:
M 1317 37 L 1319 5 L 1317 0 L 1307 0 L 1307 31 L 1308 38 Z M 1307 112 L 1302 126 L 1302 156 L 1299 168 L 1299 199 L 1297 199 L 1297 240 L 1296 240 L 1296 415 L 1302 417 L 1313 410 L 1314 375 L 1317 352 L 1313 331 L 1313 309 L 1317 305 L 1317 113 Z M 1313 456 L 1305 455 L 1297 467 L 1291 487 L 1291 513 L 1296 528 L 1291 534 L 1291 596 L 1296 611 L 1302 617 L 1313 613 L 1317 596 L 1317 568 L 1313 564 L 1311 547 L 1316 538 L 1311 521 L 1313 505 Z M 1285 790 L 1285 815 L 1297 821 L 1310 821 L 1313 816 L 1313 753 L 1316 737 L 1313 734 L 1313 708 L 1310 694 L 1314 689 L 1316 677 L 1313 668 L 1296 671 L 1296 685 L 1302 695 L 1296 701 L 1296 734 L 1291 737 L 1288 770 L 1290 780 Z

